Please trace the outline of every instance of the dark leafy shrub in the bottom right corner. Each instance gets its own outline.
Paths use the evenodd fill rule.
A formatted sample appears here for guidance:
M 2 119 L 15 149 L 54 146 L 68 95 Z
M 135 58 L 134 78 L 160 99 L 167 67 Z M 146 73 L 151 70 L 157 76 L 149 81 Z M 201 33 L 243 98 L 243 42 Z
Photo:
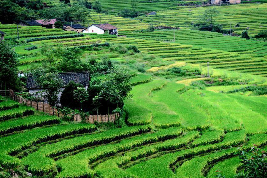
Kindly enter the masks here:
M 238 178 L 266 178 L 267 177 L 267 156 L 266 152 L 256 147 L 249 151 L 241 150 L 239 153 L 244 172 L 236 175 Z

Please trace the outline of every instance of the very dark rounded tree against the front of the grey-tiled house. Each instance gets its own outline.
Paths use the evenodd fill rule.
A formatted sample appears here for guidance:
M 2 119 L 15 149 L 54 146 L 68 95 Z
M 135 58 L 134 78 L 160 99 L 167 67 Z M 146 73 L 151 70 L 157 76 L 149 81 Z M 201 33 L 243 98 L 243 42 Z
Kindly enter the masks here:
M 75 83 L 73 81 L 69 82 L 65 89 L 63 90 L 60 97 L 60 104 L 62 107 L 69 107 L 71 109 L 77 109 L 79 102 L 74 98 L 73 91 L 82 85 Z

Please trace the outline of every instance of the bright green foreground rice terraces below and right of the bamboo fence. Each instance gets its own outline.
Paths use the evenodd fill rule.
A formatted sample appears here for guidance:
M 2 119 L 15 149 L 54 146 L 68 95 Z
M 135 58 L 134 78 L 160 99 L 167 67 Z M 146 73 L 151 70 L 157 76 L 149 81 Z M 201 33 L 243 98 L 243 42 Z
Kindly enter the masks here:
M 1 166 L 23 165 L 37 177 L 193 178 L 220 169 L 230 178 L 242 166 L 240 144 L 266 149 L 266 97 L 186 91 L 183 82 L 148 74 L 138 81 L 125 103 L 129 126 L 101 131 L 40 113 L 0 122 Z M 8 107 L 0 115 L 23 107 L 1 100 Z

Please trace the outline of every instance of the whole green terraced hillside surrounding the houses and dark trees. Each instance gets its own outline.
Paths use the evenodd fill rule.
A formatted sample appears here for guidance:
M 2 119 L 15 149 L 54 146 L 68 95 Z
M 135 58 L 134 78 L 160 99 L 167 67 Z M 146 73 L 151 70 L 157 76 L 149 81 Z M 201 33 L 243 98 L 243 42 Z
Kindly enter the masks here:
M 62 5 L 44 2 L 49 8 Z M 266 42 L 192 30 L 193 22 L 213 7 L 187 5 L 206 1 L 138 0 L 136 11 L 157 15 L 131 19 L 117 15 L 131 9 L 129 1 L 100 2 L 108 12 L 88 9 L 86 26 L 110 23 L 118 27 L 119 36 L 18 26 L 16 39 L 15 24 L 0 24 L 24 74 L 34 69 L 88 70 L 94 97 L 100 87 L 110 87 L 101 82 L 122 70 L 132 87 L 128 97 L 115 104 L 120 113 L 115 123 L 77 123 L 0 96 L 0 177 L 14 173 L 27 178 L 28 172 L 34 178 L 214 178 L 220 172 L 233 178 L 244 172 L 242 150 L 267 150 Z M 249 26 L 252 37 L 267 27 L 266 5 L 216 6 L 220 14 L 215 19 L 224 29 L 231 24 L 239 34 Z M 150 24 L 181 29 L 148 31 Z M 47 49 L 67 57 L 50 63 Z M 20 88 L 25 82 L 21 77 Z M 65 97 L 73 99 L 69 93 Z M 96 110 L 95 102 L 84 107 L 90 111 L 86 114 L 100 108 Z

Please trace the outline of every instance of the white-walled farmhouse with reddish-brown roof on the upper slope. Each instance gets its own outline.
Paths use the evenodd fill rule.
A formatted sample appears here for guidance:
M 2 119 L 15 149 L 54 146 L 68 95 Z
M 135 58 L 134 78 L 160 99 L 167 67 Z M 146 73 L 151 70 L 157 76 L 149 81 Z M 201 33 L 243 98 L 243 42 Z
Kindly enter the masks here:
M 118 35 L 118 28 L 113 25 L 110 25 L 109 23 L 92 24 L 88 28 L 85 28 L 82 33 L 109 33 L 111 35 Z

